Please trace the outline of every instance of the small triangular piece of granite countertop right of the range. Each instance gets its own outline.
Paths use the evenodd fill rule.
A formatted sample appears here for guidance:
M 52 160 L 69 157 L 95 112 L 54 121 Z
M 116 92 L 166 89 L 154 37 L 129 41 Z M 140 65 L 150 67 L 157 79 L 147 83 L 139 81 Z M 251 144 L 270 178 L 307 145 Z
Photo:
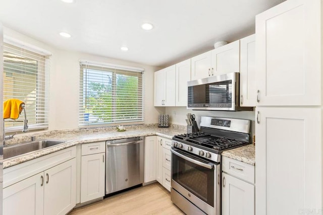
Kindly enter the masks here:
M 253 144 L 224 151 L 221 155 L 255 166 L 255 147 Z

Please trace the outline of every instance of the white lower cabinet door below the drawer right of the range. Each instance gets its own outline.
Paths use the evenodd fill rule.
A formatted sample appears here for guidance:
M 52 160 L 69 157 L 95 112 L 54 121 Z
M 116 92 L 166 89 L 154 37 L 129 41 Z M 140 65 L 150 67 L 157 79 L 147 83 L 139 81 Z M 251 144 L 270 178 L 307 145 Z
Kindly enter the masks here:
M 222 173 L 222 214 L 254 214 L 254 185 Z

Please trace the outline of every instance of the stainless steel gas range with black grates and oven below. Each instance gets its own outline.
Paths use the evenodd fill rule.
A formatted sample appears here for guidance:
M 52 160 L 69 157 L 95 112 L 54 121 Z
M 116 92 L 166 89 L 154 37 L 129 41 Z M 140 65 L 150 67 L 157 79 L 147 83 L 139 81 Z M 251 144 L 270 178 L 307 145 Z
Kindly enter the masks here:
M 172 142 L 171 199 L 186 214 L 221 214 L 221 153 L 250 144 L 251 121 L 201 116 Z

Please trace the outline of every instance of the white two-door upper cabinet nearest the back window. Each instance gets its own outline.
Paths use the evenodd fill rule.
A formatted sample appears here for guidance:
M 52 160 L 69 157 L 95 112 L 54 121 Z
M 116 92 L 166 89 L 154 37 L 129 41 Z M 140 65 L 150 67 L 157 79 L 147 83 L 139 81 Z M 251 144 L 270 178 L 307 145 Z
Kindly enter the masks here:
M 154 106 L 175 106 L 176 66 L 156 71 L 154 74 Z

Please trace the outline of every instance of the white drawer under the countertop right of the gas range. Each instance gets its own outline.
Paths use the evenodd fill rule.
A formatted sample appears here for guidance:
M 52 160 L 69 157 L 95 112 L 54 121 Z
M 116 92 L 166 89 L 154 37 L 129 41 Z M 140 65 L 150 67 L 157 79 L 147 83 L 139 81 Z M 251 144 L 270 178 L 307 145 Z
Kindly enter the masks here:
M 254 184 L 254 166 L 222 157 L 222 171 Z

